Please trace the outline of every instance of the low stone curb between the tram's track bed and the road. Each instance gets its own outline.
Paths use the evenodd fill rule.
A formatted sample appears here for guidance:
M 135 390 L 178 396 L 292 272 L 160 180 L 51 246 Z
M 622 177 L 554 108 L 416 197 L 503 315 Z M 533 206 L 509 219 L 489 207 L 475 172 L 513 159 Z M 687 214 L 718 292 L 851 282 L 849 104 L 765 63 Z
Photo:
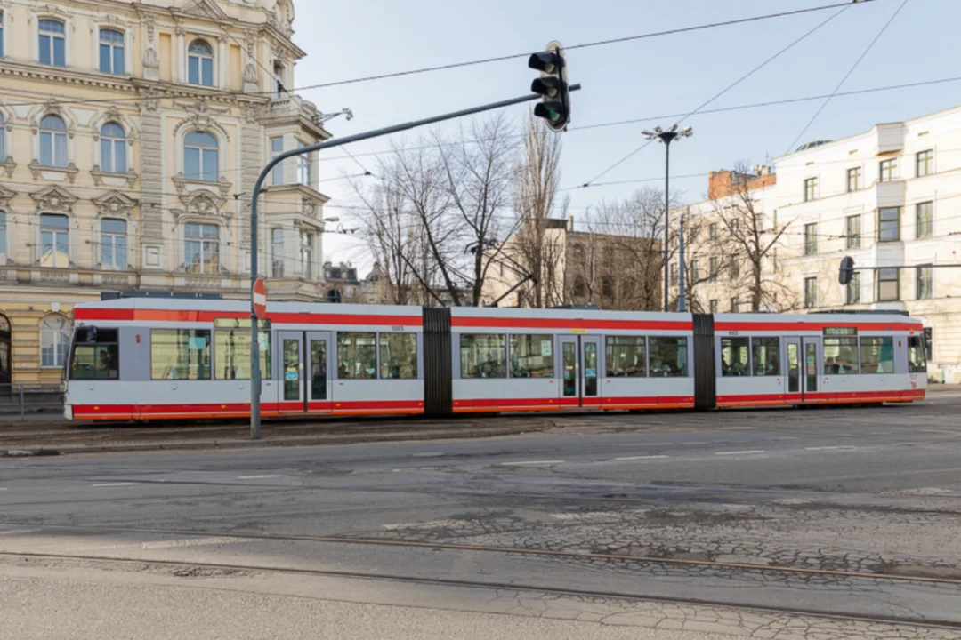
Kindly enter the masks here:
M 364 434 L 358 436 L 292 436 L 288 438 L 242 440 L 242 439 L 207 439 L 182 440 L 174 442 L 139 442 L 134 444 L 93 444 L 93 445 L 62 445 L 59 447 L 28 447 L 0 450 L 0 458 L 35 458 L 43 456 L 63 456 L 86 453 L 124 453 L 143 451 L 190 451 L 190 450 L 228 450 L 247 449 L 253 447 L 282 447 L 282 446 L 318 446 L 344 445 L 365 442 L 404 442 L 411 440 L 440 440 L 440 439 L 479 439 L 516 436 L 538 431 L 529 427 L 513 429 L 488 429 L 472 431 L 434 431 L 407 432 L 399 434 Z

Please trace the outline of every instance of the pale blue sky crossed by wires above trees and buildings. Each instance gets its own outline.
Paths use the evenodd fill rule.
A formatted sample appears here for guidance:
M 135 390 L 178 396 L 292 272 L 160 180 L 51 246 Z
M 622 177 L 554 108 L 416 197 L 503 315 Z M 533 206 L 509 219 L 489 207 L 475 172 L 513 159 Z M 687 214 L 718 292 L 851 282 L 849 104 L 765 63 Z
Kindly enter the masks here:
M 549 41 L 565 47 L 624 36 L 834 4 L 837 0 L 296 0 L 294 41 L 307 52 L 296 67 L 296 87 L 407 71 L 428 66 L 541 50 Z M 712 102 L 707 109 L 830 94 L 864 54 L 904 0 L 854 4 L 811 36 Z M 657 36 L 567 52 L 573 94 L 570 129 L 561 135 L 561 188 L 571 196 L 577 220 L 601 201 L 627 198 L 645 186 L 660 188 L 664 149 L 650 145 L 598 178 L 644 144 L 641 131 L 669 127 L 774 56 L 830 15 L 830 9 L 687 34 Z M 961 0 L 907 0 L 890 27 L 850 73 L 841 91 L 961 77 Z M 298 91 L 321 111 L 354 112 L 327 124 L 345 136 L 409 120 L 474 107 L 530 92 L 536 73 L 527 57 L 400 78 Z M 695 114 L 684 121 L 694 135 L 672 145 L 672 193 L 699 201 L 707 173 L 735 162 L 770 162 L 782 155 L 824 103 L 735 109 Z M 961 82 L 932 84 L 831 100 L 798 144 L 870 130 L 961 105 Z M 507 107 L 517 126 L 528 106 Z M 663 117 L 658 117 L 663 116 Z M 645 119 L 633 124 L 591 125 Z M 447 124 L 448 129 L 458 125 Z M 578 129 L 585 127 L 585 129 Z M 350 209 L 357 198 L 350 180 L 377 175 L 390 149 L 413 145 L 428 130 L 410 131 L 322 153 L 320 190 L 331 198 L 327 217 L 357 226 Z M 794 145 L 797 147 L 798 145 Z M 677 178 L 675 178 L 677 177 Z M 376 178 L 353 178 L 371 180 Z M 600 183 L 587 188 L 585 182 Z M 336 225 L 329 225 L 333 229 Z M 349 235 L 325 234 L 325 260 L 369 267 L 367 251 Z

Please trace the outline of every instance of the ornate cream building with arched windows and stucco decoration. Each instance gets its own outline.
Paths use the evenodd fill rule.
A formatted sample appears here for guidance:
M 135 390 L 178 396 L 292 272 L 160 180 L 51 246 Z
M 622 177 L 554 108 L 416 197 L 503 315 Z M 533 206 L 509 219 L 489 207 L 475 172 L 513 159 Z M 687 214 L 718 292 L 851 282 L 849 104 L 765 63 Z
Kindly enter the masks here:
M 0 384 L 59 381 L 72 306 L 105 291 L 246 296 L 272 154 L 330 137 L 287 92 L 292 0 L 0 0 Z M 317 299 L 304 156 L 261 201 L 271 295 Z

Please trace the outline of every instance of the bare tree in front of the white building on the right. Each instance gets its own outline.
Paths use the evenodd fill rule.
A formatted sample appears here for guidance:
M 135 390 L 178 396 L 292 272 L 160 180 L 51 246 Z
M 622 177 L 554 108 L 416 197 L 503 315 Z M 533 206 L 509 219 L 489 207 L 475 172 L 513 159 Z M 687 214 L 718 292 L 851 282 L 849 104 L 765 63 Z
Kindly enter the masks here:
M 761 178 L 747 163 L 737 162 L 728 193 L 713 201 L 714 217 L 725 231 L 732 289 L 750 299 L 753 312 L 796 304 L 796 296 L 778 277 L 775 264 L 777 247 L 790 223 L 765 215 L 759 196 Z M 746 273 L 742 273 L 742 264 Z

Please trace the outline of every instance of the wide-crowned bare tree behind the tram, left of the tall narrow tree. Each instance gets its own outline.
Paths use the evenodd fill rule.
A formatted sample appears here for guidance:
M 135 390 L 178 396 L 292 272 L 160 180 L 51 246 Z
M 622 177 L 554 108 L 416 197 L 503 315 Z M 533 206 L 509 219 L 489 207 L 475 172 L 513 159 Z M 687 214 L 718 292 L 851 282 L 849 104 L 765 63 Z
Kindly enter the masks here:
M 395 145 L 381 183 L 354 184 L 368 245 L 389 265 L 406 300 L 478 305 L 494 256 L 512 231 L 506 216 L 517 145 L 503 116 L 468 130 L 434 131 L 416 145 Z

